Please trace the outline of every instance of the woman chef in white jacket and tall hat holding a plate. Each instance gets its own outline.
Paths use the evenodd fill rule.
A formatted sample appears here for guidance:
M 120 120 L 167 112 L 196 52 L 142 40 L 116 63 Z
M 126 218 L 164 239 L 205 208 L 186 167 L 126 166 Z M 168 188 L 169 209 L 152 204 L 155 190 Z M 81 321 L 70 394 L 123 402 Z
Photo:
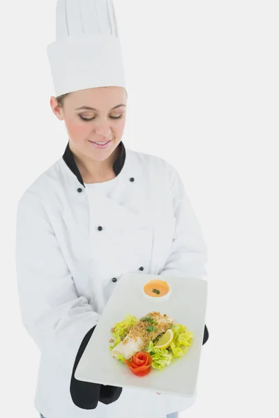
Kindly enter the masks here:
M 195 396 L 74 373 L 122 274 L 204 277 L 199 222 L 176 169 L 121 139 L 127 91 L 112 0 L 58 0 L 47 54 L 50 104 L 68 144 L 20 197 L 16 224 L 22 322 L 41 354 L 36 409 L 45 418 L 174 417 Z

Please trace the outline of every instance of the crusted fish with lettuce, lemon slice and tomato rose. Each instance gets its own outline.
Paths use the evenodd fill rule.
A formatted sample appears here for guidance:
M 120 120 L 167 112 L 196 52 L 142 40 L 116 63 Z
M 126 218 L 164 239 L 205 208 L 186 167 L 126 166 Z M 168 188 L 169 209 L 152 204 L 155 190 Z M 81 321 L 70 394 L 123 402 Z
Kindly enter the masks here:
M 162 371 L 182 357 L 193 340 L 185 325 L 174 324 L 174 318 L 152 311 L 137 319 L 126 315 L 112 328 L 112 357 L 125 363 L 137 376 L 145 376 L 151 368 Z

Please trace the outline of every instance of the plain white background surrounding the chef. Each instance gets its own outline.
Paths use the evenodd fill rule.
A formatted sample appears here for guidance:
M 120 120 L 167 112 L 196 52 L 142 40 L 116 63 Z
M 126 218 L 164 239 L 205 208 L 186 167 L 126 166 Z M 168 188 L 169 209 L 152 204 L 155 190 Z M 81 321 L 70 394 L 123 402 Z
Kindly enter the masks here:
M 180 417 L 278 417 L 279 2 L 114 5 L 128 86 L 123 141 L 179 170 L 209 248 L 210 338 L 197 401 Z M 55 6 L 6 1 L 0 13 L 3 418 L 38 418 L 39 353 L 20 318 L 15 215 L 67 144 L 50 108 Z

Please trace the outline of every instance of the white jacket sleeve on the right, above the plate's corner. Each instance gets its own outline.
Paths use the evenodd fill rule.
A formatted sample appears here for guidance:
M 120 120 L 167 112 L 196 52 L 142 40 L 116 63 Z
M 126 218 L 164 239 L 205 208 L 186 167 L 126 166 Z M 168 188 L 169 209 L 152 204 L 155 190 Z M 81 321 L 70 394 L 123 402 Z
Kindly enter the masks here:
M 206 276 L 207 248 L 202 236 L 202 229 L 185 187 L 174 167 L 169 165 L 169 178 L 176 226 L 172 250 L 160 274 L 188 276 L 202 279 Z M 204 325 L 204 341 L 209 339 L 209 331 Z

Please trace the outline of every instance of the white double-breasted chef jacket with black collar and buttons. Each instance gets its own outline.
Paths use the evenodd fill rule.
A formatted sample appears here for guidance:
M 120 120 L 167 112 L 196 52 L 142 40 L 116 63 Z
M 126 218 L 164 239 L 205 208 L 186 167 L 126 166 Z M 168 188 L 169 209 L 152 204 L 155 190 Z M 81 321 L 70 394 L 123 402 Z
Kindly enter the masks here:
M 46 418 L 165 418 L 195 401 L 74 377 L 121 274 L 206 275 L 206 245 L 176 169 L 123 142 L 113 169 L 112 180 L 84 184 L 68 143 L 17 206 L 20 310 L 40 350 L 34 404 Z

